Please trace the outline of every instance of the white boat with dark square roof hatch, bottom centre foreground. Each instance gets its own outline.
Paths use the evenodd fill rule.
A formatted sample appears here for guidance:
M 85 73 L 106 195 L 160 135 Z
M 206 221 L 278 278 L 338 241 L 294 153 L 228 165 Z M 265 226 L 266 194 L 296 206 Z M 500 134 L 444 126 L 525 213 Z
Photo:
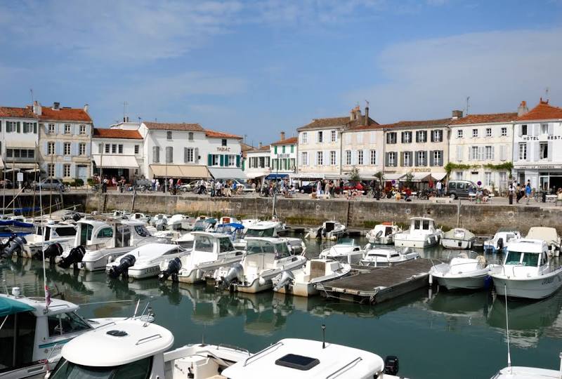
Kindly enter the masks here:
M 398 358 L 324 341 L 286 338 L 226 368 L 229 379 L 398 379 Z

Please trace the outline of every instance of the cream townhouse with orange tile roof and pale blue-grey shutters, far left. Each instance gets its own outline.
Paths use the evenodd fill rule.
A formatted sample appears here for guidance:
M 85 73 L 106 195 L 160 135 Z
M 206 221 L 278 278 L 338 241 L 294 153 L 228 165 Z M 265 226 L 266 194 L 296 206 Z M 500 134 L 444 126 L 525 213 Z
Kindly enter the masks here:
M 93 121 L 89 106 L 84 108 L 42 107 L 34 102 L 39 118 L 39 161 L 50 177 L 86 182 L 91 176 L 91 135 Z

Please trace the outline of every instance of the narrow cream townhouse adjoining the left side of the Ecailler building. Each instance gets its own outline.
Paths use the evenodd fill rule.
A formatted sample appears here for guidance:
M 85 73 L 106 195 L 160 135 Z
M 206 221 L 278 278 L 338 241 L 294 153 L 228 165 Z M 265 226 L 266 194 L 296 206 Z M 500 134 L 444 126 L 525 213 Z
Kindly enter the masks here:
M 357 168 L 363 180 L 373 180 L 382 171 L 384 131 L 379 124 L 352 126 L 341 133 L 342 173 Z

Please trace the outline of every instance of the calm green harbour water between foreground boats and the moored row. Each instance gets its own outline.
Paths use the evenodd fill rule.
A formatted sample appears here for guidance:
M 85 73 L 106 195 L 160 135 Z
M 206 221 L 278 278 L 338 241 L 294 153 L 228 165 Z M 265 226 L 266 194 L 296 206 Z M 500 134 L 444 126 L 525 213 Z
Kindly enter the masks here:
M 366 241 L 361 240 L 361 244 Z M 307 255 L 320 244 L 309 243 Z M 445 258 L 440 248 L 426 258 Z M 1 279 L 25 295 L 43 295 L 41 262 L 6 260 Z M 108 281 L 105 272 L 83 274 L 48 268 L 65 299 L 81 304 L 85 317 L 129 316 L 137 299 L 150 299 L 157 323 L 176 346 L 227 343 L 260 350 L 281 338 L 327 340 L 400 358 L 410 378 L 490 378 L 506 366 L 505 304 L 488 292 L 447 293 L 424 289 L 376 306 L 277 293 L 216 293 L 214 288 L 160 284 L 156 279 Z M 104 303 L 105 302 L 105 303 Z M 94 303 L 94 304 L 92 304 Z M 518 366 L 558 368 L 562 350 L 562 292 L 541 302 L 509 302 L 511 359 Z

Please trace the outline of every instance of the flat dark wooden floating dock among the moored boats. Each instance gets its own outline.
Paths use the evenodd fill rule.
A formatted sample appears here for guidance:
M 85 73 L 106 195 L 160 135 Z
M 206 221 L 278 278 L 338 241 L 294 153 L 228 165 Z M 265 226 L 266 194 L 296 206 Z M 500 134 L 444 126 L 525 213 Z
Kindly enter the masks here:
M 354 266 L 351 276 L 329 281 L 318 289 L 328 298 L 376 304 L 429 286 L 429 269 L 433 263 L 418 258 L 391 267 Z

